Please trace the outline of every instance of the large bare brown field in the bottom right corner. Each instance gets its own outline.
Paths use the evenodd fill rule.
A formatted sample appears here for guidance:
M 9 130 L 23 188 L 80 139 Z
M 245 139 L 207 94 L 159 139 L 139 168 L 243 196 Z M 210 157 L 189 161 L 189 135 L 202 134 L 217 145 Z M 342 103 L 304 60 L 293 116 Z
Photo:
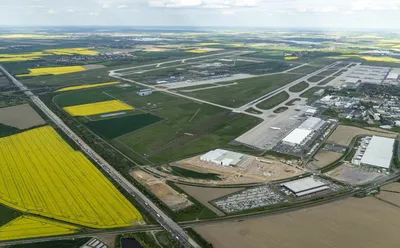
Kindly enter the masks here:
M 215 248 L 397 248 L 399 228 L 400 208 L 366 197 L 194 229 Z

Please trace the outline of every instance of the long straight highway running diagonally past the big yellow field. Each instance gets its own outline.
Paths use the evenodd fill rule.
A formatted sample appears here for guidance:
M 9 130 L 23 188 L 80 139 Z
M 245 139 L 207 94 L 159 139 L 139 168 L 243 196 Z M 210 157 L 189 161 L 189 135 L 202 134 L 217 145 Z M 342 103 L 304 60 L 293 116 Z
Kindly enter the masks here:
M 15 86 L 32 100 L 32 102 L 40 108 L 69 138 L 71 138 L 82 151 L 93 159 L 109 176 L 111 176 L 121 187 L 123 187 L 130 195 L 135 197 L 140 204 L 157 222 L 168 232 L 170 232 L 182 245 L 182 247 L 200 247 L 192 240 L 185 231 L 163 213 L 153 202 L 151 202 L 142 192 L 140 192 L 132 183 L 123 177 L 114 169 L 107 161 L 98 155 L 89 145 L 87 145 L 78 135 L 76 135 L 56 114 L 54 114 L 37 96 L 35 96 L 27 87 L 15 79 L 3 66 L 0 70 L 6 75 Z

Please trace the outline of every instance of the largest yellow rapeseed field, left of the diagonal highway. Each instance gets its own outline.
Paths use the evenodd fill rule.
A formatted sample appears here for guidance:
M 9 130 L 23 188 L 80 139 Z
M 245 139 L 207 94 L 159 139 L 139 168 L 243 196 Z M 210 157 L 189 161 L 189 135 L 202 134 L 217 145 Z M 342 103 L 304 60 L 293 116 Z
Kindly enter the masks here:
M 0 139 L 0 203 L 93 228 L 142 223 L 138 210 L 50 126 Z

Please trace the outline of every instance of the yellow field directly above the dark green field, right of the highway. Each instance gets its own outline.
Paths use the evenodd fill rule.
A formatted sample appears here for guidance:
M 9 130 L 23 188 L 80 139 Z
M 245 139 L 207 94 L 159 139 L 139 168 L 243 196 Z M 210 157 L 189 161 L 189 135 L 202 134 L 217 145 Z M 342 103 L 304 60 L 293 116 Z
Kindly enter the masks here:
M 98 115 L 133 109 L 134 108 L 132 106 L 129 106 L 128 104 L 118 100 L 81 104 L 64 108 L 64 110 L 72 116 Z

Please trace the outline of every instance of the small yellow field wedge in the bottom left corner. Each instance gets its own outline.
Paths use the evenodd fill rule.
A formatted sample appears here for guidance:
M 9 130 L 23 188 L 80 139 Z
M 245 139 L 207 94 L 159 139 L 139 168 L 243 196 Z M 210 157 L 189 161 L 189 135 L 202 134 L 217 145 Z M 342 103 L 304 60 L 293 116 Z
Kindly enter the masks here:
M 66 235 L 79 230 L 77 227 L 64 223 L 33 216 L 21 216 L 0 227 L 0 240 Z

